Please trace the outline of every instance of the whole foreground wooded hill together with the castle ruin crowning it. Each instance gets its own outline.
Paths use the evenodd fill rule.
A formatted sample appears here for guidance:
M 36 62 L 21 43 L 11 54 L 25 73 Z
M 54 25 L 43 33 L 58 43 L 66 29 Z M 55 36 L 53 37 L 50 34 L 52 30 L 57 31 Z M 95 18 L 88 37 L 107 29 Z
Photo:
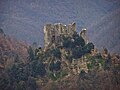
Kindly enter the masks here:
M 86 32 L 77 33 L 75 23 L 47 24 L 44 40 L 48 43 L 36 47 L 8 38 L 1 30 L 1 89 L 119 90 L 120 56 L 106 48 L 100 52 Z

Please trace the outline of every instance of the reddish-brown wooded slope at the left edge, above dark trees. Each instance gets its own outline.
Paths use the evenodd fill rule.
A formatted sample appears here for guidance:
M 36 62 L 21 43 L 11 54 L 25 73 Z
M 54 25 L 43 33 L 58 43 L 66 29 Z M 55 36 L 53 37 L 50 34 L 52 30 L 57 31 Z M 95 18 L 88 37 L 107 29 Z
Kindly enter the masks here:
M 18 60 L 18 57 L 25 62 L 28 57 L 27 50 L 28 45 L 26 43 L 0 33 L 0 65 L 4 57 L 7 57 L 7 62 L 15 58 Z

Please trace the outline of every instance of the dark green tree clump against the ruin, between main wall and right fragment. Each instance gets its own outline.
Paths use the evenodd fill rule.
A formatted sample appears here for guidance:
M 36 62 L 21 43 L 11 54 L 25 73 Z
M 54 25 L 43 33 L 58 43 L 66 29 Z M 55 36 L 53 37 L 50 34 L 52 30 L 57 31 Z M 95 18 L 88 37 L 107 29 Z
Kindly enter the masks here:
M 63 37 L 63 47 L 70 49 L 72 51 L 72 56 L 67 56 L 68 58 L 81 58 L 87 53 L 91 53 L 94 49 L 93 43 L 88 43 L 85 45 L 84 39 L 75 32 L 72 37 Z M 72 60 L 70 60 L 72 61 Z

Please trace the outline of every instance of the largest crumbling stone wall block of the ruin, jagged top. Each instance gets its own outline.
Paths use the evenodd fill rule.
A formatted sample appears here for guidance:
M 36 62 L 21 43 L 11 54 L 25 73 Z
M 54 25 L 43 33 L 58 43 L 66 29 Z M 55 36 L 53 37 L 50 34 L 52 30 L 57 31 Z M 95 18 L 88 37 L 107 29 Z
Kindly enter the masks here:
M 62 36 L 72 35 L 76 31 L 76 23 L 63 25 L 62 23 L 46 24 L 44 26 L 44 47 L 52 44 L 62 45 Z

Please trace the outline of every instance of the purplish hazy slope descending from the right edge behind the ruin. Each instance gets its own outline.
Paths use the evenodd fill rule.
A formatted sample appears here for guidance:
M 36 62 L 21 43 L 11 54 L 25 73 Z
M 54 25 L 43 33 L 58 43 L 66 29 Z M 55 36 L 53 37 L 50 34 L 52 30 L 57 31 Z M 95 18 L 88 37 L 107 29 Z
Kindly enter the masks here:
M 88 27 L 88 35 L 98 48 L 120 53 L 120 8 Z M 101 47 L 102 46 L 102 47 Z

